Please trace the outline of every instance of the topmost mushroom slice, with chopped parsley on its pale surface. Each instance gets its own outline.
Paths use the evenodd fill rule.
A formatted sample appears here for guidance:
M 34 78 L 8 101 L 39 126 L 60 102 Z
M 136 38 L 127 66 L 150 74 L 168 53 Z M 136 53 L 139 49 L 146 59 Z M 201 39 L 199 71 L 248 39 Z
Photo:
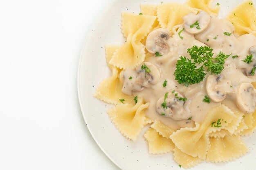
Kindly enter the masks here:
M 198 14 L 189 13 L 183 17 L 184 29 L 191 34 L 202 33 L 210 24 L 211 17 L 205 11 L 200 11 Z

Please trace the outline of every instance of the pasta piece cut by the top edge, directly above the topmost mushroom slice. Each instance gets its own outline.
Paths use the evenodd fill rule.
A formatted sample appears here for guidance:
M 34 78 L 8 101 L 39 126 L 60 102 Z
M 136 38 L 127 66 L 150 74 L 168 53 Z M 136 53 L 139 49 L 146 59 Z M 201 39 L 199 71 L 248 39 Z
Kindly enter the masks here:
M 202 9 L 209 14 L 218 15 L 220 7 L 212 4 L 212 0 L 188 0 L 186 4 L 192 8 Z

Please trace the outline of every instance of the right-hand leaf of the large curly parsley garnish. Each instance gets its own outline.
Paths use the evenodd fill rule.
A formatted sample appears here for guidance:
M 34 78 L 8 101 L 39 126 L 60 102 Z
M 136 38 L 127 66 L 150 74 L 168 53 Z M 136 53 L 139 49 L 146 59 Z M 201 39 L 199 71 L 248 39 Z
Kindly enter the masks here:
M 204 63 L 205 66 L 207 66 L 207 72 L 215 73 L 216 75 L 220 74 L 222 70 L 224 69 L 225 59 L 227 59 L 230 55 L 226 55 L 222 52 L 220 52 L 216 58 L 210 58 L 206 63 Z

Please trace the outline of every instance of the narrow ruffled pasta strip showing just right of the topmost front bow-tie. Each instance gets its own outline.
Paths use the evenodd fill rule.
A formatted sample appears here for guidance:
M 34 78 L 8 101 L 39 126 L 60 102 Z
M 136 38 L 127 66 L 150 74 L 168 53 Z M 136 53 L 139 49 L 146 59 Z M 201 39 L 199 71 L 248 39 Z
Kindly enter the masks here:
M 225 129 L 221 129 L 220 131 L 210 133 L 210 137 L 224 137 L 225 135 L 233 135 L 238 127 L 240 126 L 241 121 L 243 120 L 244 113 L 235 112 L 236 118 L 229 123 Z M 236 133 L 238 133 L 236 131 Z

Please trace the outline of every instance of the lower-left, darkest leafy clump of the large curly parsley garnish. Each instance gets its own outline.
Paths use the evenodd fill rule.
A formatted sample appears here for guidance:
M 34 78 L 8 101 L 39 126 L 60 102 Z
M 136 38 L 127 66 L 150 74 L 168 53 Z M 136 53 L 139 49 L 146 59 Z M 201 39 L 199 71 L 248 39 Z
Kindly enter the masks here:
M 180 57 L 176 63 L 176 70 L 174 72 L 175 80 L 180 84 L 189 86 L 197 84 L 204 80 L 206 73 L 204 67 L 197 68 L 195 63 L 186 57 Z

